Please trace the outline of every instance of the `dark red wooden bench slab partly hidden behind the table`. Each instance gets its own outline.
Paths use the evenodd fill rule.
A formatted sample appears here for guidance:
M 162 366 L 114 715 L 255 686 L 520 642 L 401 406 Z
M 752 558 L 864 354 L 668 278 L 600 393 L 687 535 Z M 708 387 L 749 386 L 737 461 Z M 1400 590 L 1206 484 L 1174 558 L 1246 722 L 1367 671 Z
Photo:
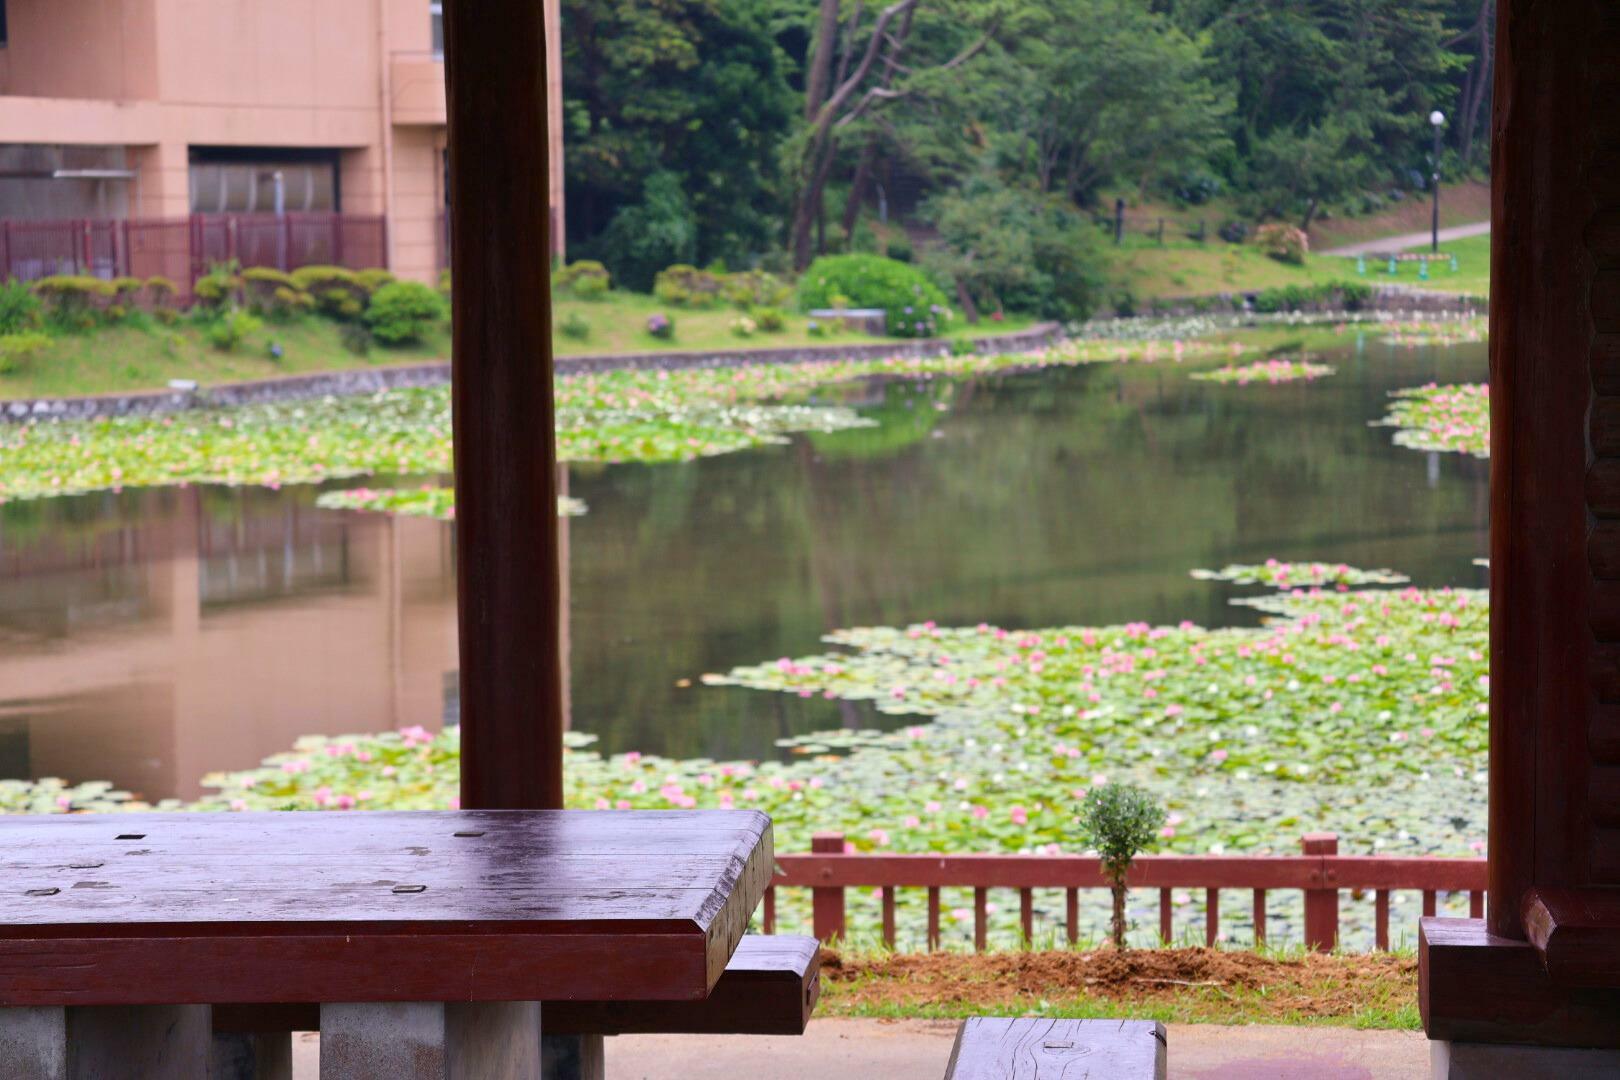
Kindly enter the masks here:
M 548 1001 L 548 1035 L 804 1035 L 821 996 L 815 938 L 748 934 L 705 1001 Z M 214 1031 L 314 1031 L 316 1004 L 215 1006 Z

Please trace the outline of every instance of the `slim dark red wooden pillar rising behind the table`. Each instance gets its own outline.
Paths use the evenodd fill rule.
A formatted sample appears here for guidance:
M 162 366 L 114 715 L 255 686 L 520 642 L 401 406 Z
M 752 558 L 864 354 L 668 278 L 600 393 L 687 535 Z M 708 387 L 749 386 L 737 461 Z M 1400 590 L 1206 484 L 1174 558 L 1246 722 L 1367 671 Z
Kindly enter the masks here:
M 536 2 L 444 5 L 462 805 L 562 805 L 546 34 Z

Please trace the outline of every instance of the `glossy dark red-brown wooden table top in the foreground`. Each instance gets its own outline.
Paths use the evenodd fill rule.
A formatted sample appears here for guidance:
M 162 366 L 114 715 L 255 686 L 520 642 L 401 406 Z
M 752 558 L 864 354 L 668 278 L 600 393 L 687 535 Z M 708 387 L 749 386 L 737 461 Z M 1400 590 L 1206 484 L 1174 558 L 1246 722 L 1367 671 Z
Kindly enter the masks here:
M 690 1001 L 757 811 L 0 816 L 0 1004 Z

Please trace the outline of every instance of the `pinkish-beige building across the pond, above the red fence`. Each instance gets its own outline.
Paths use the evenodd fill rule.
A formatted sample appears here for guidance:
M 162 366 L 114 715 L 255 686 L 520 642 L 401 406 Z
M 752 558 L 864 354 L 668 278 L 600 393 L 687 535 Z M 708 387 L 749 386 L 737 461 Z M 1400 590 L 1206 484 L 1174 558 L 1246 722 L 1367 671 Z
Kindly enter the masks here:
M 444 253 L 429 0 L 0 0 L 0 219 L 384 215 Z

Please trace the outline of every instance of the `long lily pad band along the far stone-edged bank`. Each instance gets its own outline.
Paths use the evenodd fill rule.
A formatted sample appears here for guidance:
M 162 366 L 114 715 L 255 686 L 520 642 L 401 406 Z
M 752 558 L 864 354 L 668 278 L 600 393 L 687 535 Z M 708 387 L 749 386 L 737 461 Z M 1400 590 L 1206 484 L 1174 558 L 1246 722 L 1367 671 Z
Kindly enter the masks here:
M 838 403 L 808 403 L 812 392 L 855 379 L 956 377 L 1179 358 L 1210 348 L 1066 342 L 1032 355 L 565 376 L 556 384 L 557 453 L 567 461 L 684 461 L 781 442 L 799 431 L 870 426 Z M 157 418 L 0 426 L 0 500 L 164 484 L 279 487 L 371 473 L 447 471 L 446 387 Z

